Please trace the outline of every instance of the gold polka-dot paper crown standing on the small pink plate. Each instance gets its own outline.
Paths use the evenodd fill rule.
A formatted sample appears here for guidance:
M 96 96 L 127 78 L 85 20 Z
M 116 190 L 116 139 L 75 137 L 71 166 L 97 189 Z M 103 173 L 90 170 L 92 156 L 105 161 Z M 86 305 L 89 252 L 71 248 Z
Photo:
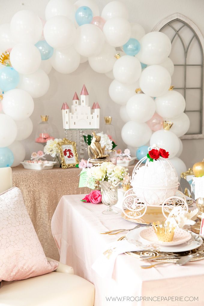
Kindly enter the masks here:
M 158 240 L 163 242 L 170 242 L 173 240 L 176 226 L 170 226 L 170 222 L 153 222 L 152 227 L 154 228 Z

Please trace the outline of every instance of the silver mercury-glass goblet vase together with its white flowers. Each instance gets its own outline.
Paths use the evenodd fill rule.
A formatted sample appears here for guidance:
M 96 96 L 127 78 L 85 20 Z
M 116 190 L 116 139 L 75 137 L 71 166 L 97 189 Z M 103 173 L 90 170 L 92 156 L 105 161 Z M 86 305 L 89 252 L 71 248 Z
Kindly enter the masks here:
M 117 203 L 117 188 L 125 179 L 127 181 L 128 169 L 122 166 L 115 166 L 112 162 L 103 162 L 101 166 L 92 167 L 88 171 L 90 179 L 98 180 L 101 185 L 102 203 L 107 205 L 103 214 L 117 214 L 112 206 Z

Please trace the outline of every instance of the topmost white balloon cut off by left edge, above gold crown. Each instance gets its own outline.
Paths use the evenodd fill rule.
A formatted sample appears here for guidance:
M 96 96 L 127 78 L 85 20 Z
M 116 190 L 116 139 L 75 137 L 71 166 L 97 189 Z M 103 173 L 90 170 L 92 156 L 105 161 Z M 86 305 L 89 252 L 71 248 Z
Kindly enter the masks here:
M 5 52 L 7 49 L 13 48 L 16 44 L 13 36 L 10 31 L 10 24 L 4 23 L 0 25 L 0 48 L 2 52 Z

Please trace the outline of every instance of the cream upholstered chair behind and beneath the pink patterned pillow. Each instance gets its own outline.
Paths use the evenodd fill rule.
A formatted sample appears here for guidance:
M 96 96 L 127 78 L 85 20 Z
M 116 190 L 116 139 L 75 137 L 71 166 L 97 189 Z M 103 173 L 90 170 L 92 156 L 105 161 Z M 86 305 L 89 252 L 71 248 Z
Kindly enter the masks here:
M 0 193 L 12 186 L 11 168 L 0 168 Z M 63 263 L 48 274 L 0 283 L 0 306 L 93 306 L 94 297 L 94 285 Z

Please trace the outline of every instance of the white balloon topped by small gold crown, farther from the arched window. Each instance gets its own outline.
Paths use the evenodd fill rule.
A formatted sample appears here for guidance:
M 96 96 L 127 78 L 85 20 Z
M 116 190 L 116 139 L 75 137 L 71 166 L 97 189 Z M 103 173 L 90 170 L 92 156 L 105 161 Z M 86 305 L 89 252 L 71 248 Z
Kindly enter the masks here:
M 128 100 L 126 110 L 130 120 L 142 123 L 150 120 L 154 115 L 155 103 L 145 94 L 136 94 Z

